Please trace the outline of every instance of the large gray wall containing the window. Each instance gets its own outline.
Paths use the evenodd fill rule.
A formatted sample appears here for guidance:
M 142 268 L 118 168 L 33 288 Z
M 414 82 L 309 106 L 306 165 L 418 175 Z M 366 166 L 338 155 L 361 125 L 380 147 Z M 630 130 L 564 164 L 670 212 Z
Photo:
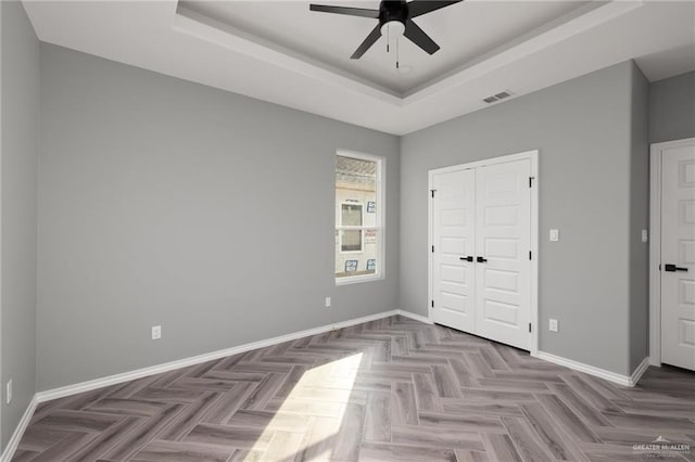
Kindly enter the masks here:
M 41 44 L 41 390 L 397 308 L 396 137 Z M 383 281 L 334 285 L 337 147 L 387 158 Z

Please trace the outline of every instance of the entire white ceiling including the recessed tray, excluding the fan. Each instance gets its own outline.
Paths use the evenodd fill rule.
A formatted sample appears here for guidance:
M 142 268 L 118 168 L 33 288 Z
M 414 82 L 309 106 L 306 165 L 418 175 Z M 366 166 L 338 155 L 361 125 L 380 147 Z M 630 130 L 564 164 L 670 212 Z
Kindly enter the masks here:
M 308 1 L 24 4 L 46 42 L 395 134 L 629 59 L 649 80 L 695 69 L 692 1 L 466 0 L 416 20 L 442 49 L 430 56 L 404 40 L 408 74 L 383 39 L 350 60 L 375 20 L 309 12 Z

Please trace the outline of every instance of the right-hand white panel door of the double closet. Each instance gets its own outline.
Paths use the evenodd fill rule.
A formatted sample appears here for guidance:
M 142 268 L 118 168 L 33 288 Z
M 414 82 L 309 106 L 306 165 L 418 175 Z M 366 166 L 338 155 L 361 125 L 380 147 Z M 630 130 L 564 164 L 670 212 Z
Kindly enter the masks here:
M 476 169 L 477 334 L 530 349 L 529 159 Z

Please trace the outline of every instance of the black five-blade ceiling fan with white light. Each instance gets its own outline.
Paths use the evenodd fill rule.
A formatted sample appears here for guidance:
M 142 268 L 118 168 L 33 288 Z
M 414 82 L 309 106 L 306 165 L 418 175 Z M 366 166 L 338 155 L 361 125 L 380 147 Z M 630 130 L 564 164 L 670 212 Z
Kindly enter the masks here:
M 463 0 L 434 1 L 434 0 L 414 0 L 406 2 L 405 0 L 383 0 L 379 4 L 379 10 L 370 10 L 366 8 L 334 7 L 327 4 L 309 4 L 311 11 L 319 11 L 323 13 L 345 14 L 349 16 L 371 17 L 379 20 L 379 24 L 369 33 L 367 38 L 362 42 L 357 50 L 350 56 L 351 60 L 358 60 L 382 35 L 393 36 L 397 38 L 405 36 L 413 43 L 420 47 L 429 54 L 433 54 L 440 49 L 434 42 L 418 27 L 414 17 L 421 16 L 432 11 L 440 10 Z M 387 51 L 389 44 L 387 43 Z M 396 48 L 397 50 L 397 48 Z M 396 57 L 396 67 L 399 62 Z

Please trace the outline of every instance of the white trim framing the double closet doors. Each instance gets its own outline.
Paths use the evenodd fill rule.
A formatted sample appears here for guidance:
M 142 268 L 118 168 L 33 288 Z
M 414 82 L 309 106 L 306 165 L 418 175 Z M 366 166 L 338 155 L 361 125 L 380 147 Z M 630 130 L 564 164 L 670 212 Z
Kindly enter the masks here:
M 540 320 L 539 320 L 539 151 L 526 151 L 517 154 L 509 154 L 501 157 L 488 158 L 484 161 L 470 162 L 467 164 L 455 165 L 451 167 L 443 167 L 430 170 L 428 174 L 428 201 L 427 201 L 427 213 L 428 213 L 428 229 L 427 229 L 427 255 L 428 255 L 428 272 L 427 272 L 427 312 L 428 319 L 431 320 L 429 316 L 431 310 L 431 304 L 433 299 L 432 294 L 432 273 L 433 268 L 432 265 L 434 262 L 432 258 L 432 252 L 430 252 L 433 245 L 434 239 L 434 230 L 432 229 L 433 213 L 434 209 L 432 207 L 432 189 L 434 184 L 434 175 L 443 174 L 448 171 L 469 169 L 476 167 L 484 167 L 485 165 L 494 165 L 494 164 L 505 164 L 508 162 L 529 159 L 531 161 L 531 177 L 533 178 L 533 187 L 531 188 L 531 313 L 530 319 L 532 323 L 531 329 L 531 349 L 530 354 L 533 357 L 538 357 L 539 355 L 539 329 L 540 329 Z

